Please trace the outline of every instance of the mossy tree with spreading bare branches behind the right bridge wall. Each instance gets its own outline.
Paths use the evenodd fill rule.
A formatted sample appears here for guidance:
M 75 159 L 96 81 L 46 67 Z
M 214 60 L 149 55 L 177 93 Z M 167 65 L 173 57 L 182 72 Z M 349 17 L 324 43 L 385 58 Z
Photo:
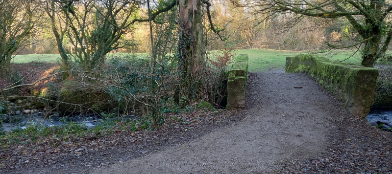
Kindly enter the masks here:
M 384 57 L 392 39 L 392 1 L 386 0 L 232 0 L 239 6 L 257 9 L 257 13 L 274 16 L 294 12 L 292 20 L 306 16 L 345 18 L 361 40 L 348 45 L 326 43 L 332 48 L 361 46 L 363 66 L 372 67 Z

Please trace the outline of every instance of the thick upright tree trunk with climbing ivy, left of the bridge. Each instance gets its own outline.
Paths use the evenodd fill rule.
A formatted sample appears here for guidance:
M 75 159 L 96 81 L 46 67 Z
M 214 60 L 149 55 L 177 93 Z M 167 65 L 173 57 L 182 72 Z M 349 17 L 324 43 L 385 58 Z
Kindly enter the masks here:
M 189 104 L 200 95 L 200 79 L 205 66 L 205 48 L 200 0 L 180 0 L 178 70 L 180 103 Z

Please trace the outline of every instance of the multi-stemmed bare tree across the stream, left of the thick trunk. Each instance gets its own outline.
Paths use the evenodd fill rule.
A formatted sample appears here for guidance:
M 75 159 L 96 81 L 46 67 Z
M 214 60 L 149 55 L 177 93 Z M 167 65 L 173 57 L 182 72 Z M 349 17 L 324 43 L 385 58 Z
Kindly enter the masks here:
M 99 68 L 110 51 L 128 46 L 124 34 L 135 22 L 148 22 L 139 17 L 138 0 L 54 0 L 61 4 L 68 21 L 68 36 L 75 47 L 75 57 L 85 68 Z M 151 12 L 151 20 L 178 4 L 172 0 L 167 6 Z

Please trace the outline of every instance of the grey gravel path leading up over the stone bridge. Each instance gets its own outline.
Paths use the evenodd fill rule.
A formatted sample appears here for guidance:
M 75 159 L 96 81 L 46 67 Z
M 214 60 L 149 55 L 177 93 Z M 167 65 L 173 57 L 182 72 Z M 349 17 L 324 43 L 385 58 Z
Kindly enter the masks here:
M 305 74 L 254 73 L 248 78 L 245 119 L 91 174 L 274 173 L 323 156 L 333 120 L 350 115 Z M 298 88 L 295 88 L 298 87 Z M 300 88 L 299 88 L 300 87 Z

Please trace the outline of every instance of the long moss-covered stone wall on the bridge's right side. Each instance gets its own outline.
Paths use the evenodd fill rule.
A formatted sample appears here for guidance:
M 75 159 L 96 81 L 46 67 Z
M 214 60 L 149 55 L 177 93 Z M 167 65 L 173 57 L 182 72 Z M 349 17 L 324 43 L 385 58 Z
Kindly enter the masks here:
M 348 111 L 367 116 L 374 101 L 378 70 L 332 62 L 322 56 L 287 57 L 286 72 L 308 73 L 341 101 Z

